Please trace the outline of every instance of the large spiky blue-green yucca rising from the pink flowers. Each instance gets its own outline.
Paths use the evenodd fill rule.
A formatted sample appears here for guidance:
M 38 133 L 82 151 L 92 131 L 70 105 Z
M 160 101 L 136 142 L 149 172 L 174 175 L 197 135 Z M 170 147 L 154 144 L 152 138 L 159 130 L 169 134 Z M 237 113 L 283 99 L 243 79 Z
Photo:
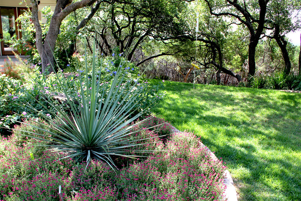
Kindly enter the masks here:
M 32 126 L 44 133 L 46 132 L 47 135 L 40 134 L 43 132 L 28 132 L 25 136 L 38 139 L 44 142 L 45 146 L 66 153 L 61 159 L 72 157 L 76 159 L 75 161 L 87 161 L 87 165 L 91 159 L 102 160 L 113 168 L 115 164 L 111 156 L 134 157 L 128 155 L 128 149 L 132 146 L 141 145 L 136 143 L 138 140 L 144 140 L 126 138 L 126 136 L 133 134 L 131 130 L 137 124 L 127 127 L 126 125 L 144 114 L 147 108 L 140 109 L 133 115 L 132 109 L 135 104 L 140 104 L 143 96 L 141 87 L 144 86 L 140 85 L 138 87 L 139 79 L 132 86 L 128 81 L 125 84 L 123 83 L 125 75 L 121 74 L 121 68 L 124 60 L 121 61 L 109 89 L 106 90 L 100 86 L 101 69 L 97 69 L 96 66 L 101 68 L 102 58 L 98 59 L 98 56 L 98 54 L 95 54 L 94 47 L 91 83 L 85 82 L 85 80 L 81 79 L 81 76 L 78 76 L 79 87 L 77 87 L 78 84 L 73 80 L 74 88 L 79 91 L 77 97 L 72 97 L 74 91 L 68 89 L 65 79 L 59 79 L 60 76 L 64 77 L 62 72 L 56 73 L 58 83 L 67 97 L 67 103 L 70 106 L 68 113 L 71 113 L 71 115 L 62 109 L 62 105 L 55 103 L 49 95 L 45 94 L 45 97 L 42 98 L 51 107 L 55 108 L 55 112 L 51 112 L 46 107 L 43 108 L 44 111 L 49 113 L 47 115 L 37 111 L 35 108 L 31 108 L 31 110 L 38 113 L 51 126 L 43 125 L 43 123 L 36 120 L 33 120 L 35 122 L 34 125 L 24 122 L 20 123 Z M 96 64 L 97 62 L 100 62 L 100 65 Z M 88 80 L 87 59 L 85 63 L 85 78 Z M 123 85 L 121 85 L 122 83 Z M 40 87 L 42 88 L 42 86 Z M 130 90 L 125 90 L 126 87 L 130 87 Z M 43 105 L 42 103 L 40 104 Z M 27 107 L 30 106 L 27 105 Z M 55 124 L 50 116 L 56 118 L 56 122 L 63 126 Z M 137 152 L 146 151 L 137 150 Z

